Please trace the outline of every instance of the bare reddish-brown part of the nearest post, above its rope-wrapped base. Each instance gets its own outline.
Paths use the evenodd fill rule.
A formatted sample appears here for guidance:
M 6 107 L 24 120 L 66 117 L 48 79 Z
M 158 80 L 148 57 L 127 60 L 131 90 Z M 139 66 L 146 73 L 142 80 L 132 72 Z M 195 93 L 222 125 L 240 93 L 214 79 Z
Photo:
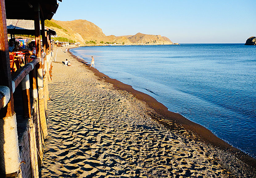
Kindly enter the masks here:
M 0 85 L 10 88 L 10 102 L 0 110 L 0 118 L 14 114 L 9 46 L 6 26 L 5 0 L 0 0 Z

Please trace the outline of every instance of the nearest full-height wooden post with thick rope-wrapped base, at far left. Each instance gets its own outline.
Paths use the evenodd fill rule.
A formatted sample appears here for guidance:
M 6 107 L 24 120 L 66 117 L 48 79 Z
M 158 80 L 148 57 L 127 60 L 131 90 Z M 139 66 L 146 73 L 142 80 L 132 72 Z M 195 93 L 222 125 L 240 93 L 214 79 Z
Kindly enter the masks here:
M 0 109 L 0 176 L 15 177 L 20 164 L 19 144 L 7 40 L 5 0 L 0 0 L 0 86 L 6 89 L 6 103 L 9 100 Z

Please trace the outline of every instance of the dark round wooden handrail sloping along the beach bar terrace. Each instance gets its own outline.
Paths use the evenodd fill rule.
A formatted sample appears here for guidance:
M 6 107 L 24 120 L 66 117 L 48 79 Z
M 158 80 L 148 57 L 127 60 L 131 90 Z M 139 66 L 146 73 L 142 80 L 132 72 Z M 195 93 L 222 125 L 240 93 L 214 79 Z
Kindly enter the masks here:
M 25 64 L 23 68 L 20 68 L 14 73 L 14 76 L 12 77 L 12 81 L 15 83 L 15 88 L 19 85 L 19 83 L 24 79 L 24 77 L 32 70 L 32 65 L 33 68 L 35 68 L 35 65 L 39 63 L 41 58 L 35 58 L 31 62 Z M 3 95 L 0 93 L 0 108 L 4 106 L 3 103 Z

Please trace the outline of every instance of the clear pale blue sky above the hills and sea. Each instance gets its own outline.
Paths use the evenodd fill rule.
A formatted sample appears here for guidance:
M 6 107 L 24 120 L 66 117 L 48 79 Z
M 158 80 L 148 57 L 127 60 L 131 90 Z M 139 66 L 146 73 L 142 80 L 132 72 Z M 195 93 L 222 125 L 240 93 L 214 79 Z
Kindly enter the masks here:
M 138 32 L 174 43 L 245 43 L 256 36 L 256 0 L 63 0 L 53 19 L 84 19 L 105 35 Z

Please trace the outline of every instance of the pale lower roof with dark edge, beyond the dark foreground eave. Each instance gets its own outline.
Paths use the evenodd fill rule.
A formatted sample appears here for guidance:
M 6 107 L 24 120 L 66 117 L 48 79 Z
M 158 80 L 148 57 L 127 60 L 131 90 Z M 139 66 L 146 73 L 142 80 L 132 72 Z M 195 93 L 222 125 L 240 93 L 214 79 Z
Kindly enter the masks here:
M 32 20 L 17 20 L 17 19 L 6 19 L 7 23 L 7 33 L 19 34 L 19 35 L 34 35 L 35 25 Z M 56 31 L 45 27 L 51 35 L 56 35 Z M 40 30 L 42 27 L 40 25 Z

